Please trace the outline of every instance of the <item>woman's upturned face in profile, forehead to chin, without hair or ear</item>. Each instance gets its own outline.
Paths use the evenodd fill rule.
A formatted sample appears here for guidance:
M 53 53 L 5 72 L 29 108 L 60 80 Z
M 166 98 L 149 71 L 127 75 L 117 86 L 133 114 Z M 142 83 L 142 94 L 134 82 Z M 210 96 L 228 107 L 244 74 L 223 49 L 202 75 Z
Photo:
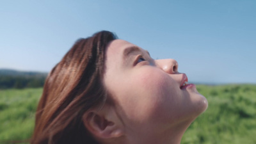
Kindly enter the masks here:
M 207 108 L 173 59 L 153 60 L 144 49 L 113 40 L 106 50 L 104 84 L 127 131 L 167 129 L 192 122 Z

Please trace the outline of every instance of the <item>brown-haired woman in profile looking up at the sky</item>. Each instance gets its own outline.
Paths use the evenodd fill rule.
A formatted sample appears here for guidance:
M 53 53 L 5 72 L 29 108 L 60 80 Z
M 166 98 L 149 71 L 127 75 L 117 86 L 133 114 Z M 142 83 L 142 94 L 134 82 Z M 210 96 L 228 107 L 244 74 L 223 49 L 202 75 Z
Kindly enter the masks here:
M 109 31 L 80 39 L 52 69 L 31 143 L 180 143 L 207 100 L 175 60 Z

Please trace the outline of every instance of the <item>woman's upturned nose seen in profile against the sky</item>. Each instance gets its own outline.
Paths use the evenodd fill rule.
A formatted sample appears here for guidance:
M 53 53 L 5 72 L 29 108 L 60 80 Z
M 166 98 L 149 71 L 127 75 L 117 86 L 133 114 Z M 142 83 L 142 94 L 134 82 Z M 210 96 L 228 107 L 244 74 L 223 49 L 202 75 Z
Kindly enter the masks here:
M 178 62 L 173 59 L 156 60 L 157 66 L 168 74 L 178 73 Z

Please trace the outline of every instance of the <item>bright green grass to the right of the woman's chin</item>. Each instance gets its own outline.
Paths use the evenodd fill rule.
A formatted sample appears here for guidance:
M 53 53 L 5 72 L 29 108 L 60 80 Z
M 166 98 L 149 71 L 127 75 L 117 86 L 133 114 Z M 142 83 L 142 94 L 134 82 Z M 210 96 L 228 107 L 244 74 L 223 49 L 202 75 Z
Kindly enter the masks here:
M 196 86 L 209 103 L 182 138 L 182 144 L 256 143 L 256 85 Z

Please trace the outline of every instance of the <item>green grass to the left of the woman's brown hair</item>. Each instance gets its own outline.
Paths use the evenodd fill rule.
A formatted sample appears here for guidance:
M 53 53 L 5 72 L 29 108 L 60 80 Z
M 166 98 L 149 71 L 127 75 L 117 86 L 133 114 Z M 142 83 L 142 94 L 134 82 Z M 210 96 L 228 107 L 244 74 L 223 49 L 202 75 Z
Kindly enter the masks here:
M 0 140 L 28 140 L 42 88 L 0 90 Z M 1 143 L 0 141 L 0 143 Z

